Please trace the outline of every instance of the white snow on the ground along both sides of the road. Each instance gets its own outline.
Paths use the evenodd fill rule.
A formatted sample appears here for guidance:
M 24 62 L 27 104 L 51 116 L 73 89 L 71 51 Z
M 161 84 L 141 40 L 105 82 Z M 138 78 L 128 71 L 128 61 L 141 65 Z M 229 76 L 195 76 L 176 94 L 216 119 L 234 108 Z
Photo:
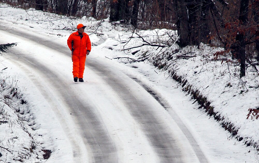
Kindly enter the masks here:
M 1 7 L 0 26 L 7 27 L 9 30 L 15 28 L 21 31 L 31 31 L 32 34 L 35 33 L 42 38 L 51 37 L 60 44 L 66 45 L 68 36 L 75 30 L 78 23 L 88 26 L 85 32 L 90 34 L 93 50 L 96 51 L 91 52 L 95 54 L 91 58 L 112 62 L 114 66 L 118 66 L 126 74 L 136 78 L 139 83 L 148 86 L 156 96 L 162 99 L 161 103 L 168 105 L 168 112 L 172 116 L 177 114 L 181 118 L 197 138 L 197 142 L 205 153 L 211 156 L 211 162 L 258 162 L 256 149 L 244 145 L 244 142 L 259 143 L 259 127 L 256 125 L 258 120 L 251 119 L 251 117 L 246 119 L 247 110 L 258 107 L 257 72 L 249 70 L 248 75 L 242 80 L 229 76 L 228 71 L 232 74 L 238 73 L 238 66 L 228 66 L 221 64 L 221 62 L 207 60 L 211 59 L 207 54 L 215 49 L 210 49 L 206 45 L 202 45 L 200 50 L 195 47 L 186 47 L 174 55 L 170 52 L 175 52 L 178 49 L 175 44 L 163 49 L 142 46 L 122 51 L 122 49 L 142 45 L 143 40 L 136 34 L 123 32 L 124 27 L 120 25 L 111 26 L 107 19 L 102 21 L 86 17 L 69 19 L 41 11 L 25 11 L 7 7 L 4 4 L 1 4 Z M 154 44 L 159 44 L 162 39 L 166 40 L 169 35 L 175 37 L 174 31 L 166 29 L 138 31 L 138 34 L 148 42 L 157 40 L 153 42 Z M 157 35 L 160 35 L 160 40 L 158 40 Z M 127 42 L 128 40 L 130 41 Z M 16 40 L 1 38 L 0 43 L 11 42 L 16 42 Z M 23 47 L 19 47 L 21 45 Z M 32 47 L 26 47 L 26 42 L 18 42 L 17 47 L 14 47 L 13 50 L 19 48 L 26 50 Z M 102 50 L 106 53 L 103 54 Z M 169 53 L 162 53 L 166 50 Z M 194 53 L 190 53 L 190 51 Z M 30 54 L 30 52 L 28 53 Z M 177 55 L 185 53 L 196 56 L 175 60 Z M 132 61 L 129 58 L 137 59 L 147 55 L 148 59 L 145 62 L 129 63 Z M 115 57 L 128 58 L 110 60 Z M 54 162 L 57 158 L 61 162 L 62 160 L 69 162 L 71 158 L 69 154 L 73 152 L 69 151 L 69 144 L 66 147 L 63 145 L 68 138 L 61 129 L 61 124 L 51 123 L 55 120 L 55 113 L 54 111 L 45 112 L 49 106 L 46 105 L 44 97 L 40 95 L 40 90 L 35 90 L 36 86 L 28 82 L 28 78 L 25 78 L 26 75 L 22 70 L 19 70 L 18 66 L 6 61 L 4 56 L 1 57 L 1 61 L 0 69 L 8 68 L 2 70 L 1 74 L 3 92 L 0 113 L 5 112 L 3 114 L 5 117 L 1 117 L 1 121 L 8 121 L 8 123 L 0 123 L 0 146 L 11 149 L 13 152 L 1 148 L 0 153 L 3 156 L 0 157 L 0 160 L 16 162 L 19 159 L 24 159 L 25 162 L 36 162 L 44 160 L 43 150 L 54 149 L 47 162 Z M 160 70 L 152 66 L 156 62 L 159 63 Z M 197 103 L 193 103 L 194 100 L 191 99 L 190 95 L 179 91 L 182 89 L 181 85 L 170 78 L 172 70 L 178 76 L 188 80 L 188 84 L 193 86 L 193 90 L 198 90 L 206 97 L 211 102 L 211 106 L 214 107 L 214 111 L 219 113 L 220 117 L 224 117 L 224 121 L 234 125 L 234 128 L 238 129 L 237 136 L 244 139 L 240 142 L 236 141 L 229 132 L 220 127 L 221 122 L 216 122 L 207 116 L 203 110 L 198 109 Z M 17 93 L 12 97 L 14 92 Z M 6 95 L 10 97 L 7 98 Z M 178 97 L 185 98 L 179 99 Z M 12 102 L 6 104 L 5 100 Z M 22 100 L 26 103 L 21 102 Z M 212 142 L 211 137 L 216 137 L 218 142 Z M 26 158 L 27 154 L 31 156 Z M 220 161 L 218 158 L 221 158 Z

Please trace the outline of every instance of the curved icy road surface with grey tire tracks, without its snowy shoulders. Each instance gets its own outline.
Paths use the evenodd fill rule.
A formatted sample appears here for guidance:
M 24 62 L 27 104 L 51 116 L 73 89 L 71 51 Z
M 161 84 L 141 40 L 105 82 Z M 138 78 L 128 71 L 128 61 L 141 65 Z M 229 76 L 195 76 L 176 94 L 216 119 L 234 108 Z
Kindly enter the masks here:
M 2 31 L 2 34 L 10 35 L 9 32 Z M 66 45 L 21 31 L 12 31 L 12 36 L 28 39 L 36 47 L 44 45 L 52 55 L 59 53 L 63 57 L 56 61 L 60 66 L 72 64 Z M 72 75 L 63 74 L 51 61 L 48 63 L 47 56 L 42 61 L 34 55 L 8 54 L 12 62 L 31 74 L 64 128 L 70 122 L 63 117 L 62 109 L 71 113 L 71 121 L 87 151 L 80 149 L 82 144 L 78 144 L 75 133 L 67 128 L 74 162 L 208 162 L 181 120 L 169 115 L 135 80 L 94 58 L 95 48 L 92 47 L 93 52 L 87 59 L 85 71 L 89 81 L 84 83 L 73 83 Z M 87 92 L 92 88 L 96 91 Z M 132 139 L 127 140 L 128 137 Z

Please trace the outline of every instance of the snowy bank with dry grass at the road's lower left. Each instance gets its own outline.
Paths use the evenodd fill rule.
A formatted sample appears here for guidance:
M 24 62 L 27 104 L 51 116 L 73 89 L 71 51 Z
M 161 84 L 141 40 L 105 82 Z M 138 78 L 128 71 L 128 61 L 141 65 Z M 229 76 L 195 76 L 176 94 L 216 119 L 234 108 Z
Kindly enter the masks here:
M 43 148 L 40 150 L 38 146 L 42 135 L 37 135 L 35 131 L 37 126 L 34 125 L 34 110 L 30 109 L 20 93 L 21 88 L 17 88 L 16 83 L 17 80 L 11 77 L 1 78 L 0 147 L 2 151 L 0 161 L 22 162 L 23 159 L 34 161 L 30 158 L 46 159 L 48 157 L 44 151 L 48 150 Z

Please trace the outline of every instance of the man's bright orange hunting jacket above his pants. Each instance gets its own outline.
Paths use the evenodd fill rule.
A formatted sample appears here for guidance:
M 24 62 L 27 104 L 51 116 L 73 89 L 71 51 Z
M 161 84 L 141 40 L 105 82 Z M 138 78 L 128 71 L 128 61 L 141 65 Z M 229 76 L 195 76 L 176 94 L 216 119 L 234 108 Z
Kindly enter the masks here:
M 88 34 L 83 32 L 83 37 L 82 39 L 80 38 L 80 35 L 77 32 L 72 33 L 68 40 L 67 40 L 67 45 L 70 50 L 72 50 L 72 40 L 74 41 L 73 43 L 73 55 L 75 56 L 85 56 L 87 53 L 87 50 L 91 51 L 91 41 L 89 39 Z

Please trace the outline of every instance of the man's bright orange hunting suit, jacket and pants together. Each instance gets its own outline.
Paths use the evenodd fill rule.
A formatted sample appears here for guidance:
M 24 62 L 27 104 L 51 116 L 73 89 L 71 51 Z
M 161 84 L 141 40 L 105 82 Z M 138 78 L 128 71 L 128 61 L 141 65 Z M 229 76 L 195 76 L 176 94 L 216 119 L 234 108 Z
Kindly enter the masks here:
M 68 40 L 67 45 L 70 50 L 72 50 L 72 40 L 73 42 L 73 76 L 78 78 L 83 78 L 84 74 L 84 66 L 85 66 L 85 60 L 86 60 L 86 54 L 87 51 L 91 51 L 91 41 L 89 39 L 88 34 L 82 33 L 83 37 L 81 38 L 78 31 L 72 33 Z

